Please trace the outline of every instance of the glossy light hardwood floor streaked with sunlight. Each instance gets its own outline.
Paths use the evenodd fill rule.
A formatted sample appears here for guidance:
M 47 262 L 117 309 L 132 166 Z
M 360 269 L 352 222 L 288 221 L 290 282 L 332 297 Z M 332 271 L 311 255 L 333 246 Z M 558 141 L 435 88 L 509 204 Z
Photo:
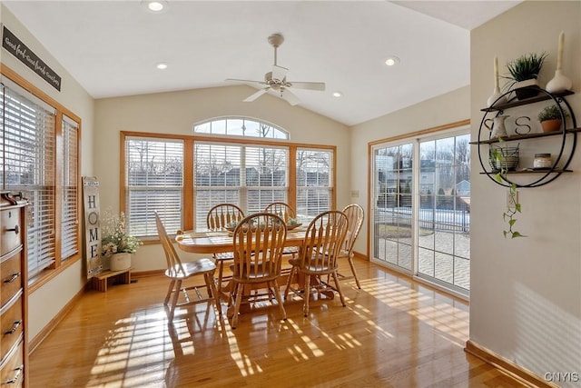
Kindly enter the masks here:
M 294 299 L 283 322 L 278 308 L 261 305 L 233 331 L 220 329 L 205 304 L 168 325 L 163 276 L 88 292 L 31 354 L 30 386 L 522 386 L 464 352 L 467 303 L 356 265 L 362 289 L 342 282 L 346 307 L 339 297 L 315 301 L 303 318 Z

